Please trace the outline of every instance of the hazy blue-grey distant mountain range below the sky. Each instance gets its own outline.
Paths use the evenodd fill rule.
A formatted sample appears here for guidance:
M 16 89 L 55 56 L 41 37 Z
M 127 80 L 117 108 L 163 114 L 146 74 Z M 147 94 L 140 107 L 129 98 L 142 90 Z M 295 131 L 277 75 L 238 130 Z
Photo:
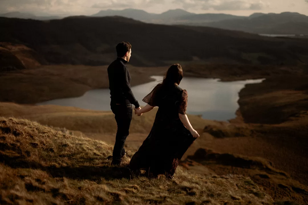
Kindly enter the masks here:
M 62 18 L 59 16 L 35 16 L 19 12 L 0 14 L 0 16 L 37 20 Z M 308 16 L 291 12 L 281 14 L 254 13 L 250 16 L 235 16 L 230 14 L 194 14 L 181 9 L 168 10 L 162 14 L 152 14 L 137 9 L 109 9 L 101 10 L 89 17 L 106 16 L 122 16 L 156 24 L 210 26 L 257 34 L 308 34 Z

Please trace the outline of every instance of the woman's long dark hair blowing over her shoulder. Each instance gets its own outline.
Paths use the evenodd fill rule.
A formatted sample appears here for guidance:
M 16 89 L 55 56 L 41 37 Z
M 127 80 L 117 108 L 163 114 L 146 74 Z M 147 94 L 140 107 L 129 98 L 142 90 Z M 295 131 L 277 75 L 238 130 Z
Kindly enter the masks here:
M 174 85 L 175 83 L 179 85 L 182 79 L 183 79 L 182 66 L 178 63 L 171 65 L 164 75 L 163 82 L 155 86 L 152 98 L 155 100 L 158 94 L 160 93 L 160 90 L 164 89 L 167 86 Z

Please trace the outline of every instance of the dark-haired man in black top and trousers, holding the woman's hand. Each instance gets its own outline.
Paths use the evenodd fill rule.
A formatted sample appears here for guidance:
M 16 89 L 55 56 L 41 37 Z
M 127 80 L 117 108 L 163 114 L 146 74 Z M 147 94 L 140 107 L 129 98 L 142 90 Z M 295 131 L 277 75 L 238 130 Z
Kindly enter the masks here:
M 121 42 L 116 46 L 116 51 L 118 58 L 108 67 L 110 106 L 118 126 L 112 153 L 112 164 L 114 165 L 120 164 L 122 157 L 126 154 L 124 143 L 129 135 L 132 121 L 132 104 L 135 108 L 141 109 L 132 93 L 131 76 L 126 66 L 132 54 L 132 45 L 129 42 Z

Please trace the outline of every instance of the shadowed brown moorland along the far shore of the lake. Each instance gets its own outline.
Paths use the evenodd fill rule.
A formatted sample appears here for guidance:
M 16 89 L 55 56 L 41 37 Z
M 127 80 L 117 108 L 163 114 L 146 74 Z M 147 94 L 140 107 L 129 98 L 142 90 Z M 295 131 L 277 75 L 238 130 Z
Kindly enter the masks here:
M 164 67 L 128 65 L 131 86 L 153 81 L 150 76 L 164 75 Z M 184 77 L 219 78 L 223 82 L 300 76 L 305 66 L 254 66 L 222 64 L 183 65 Z M 107 66 L 50 65 L 36 69 L 3 73 L 0 76 L 0 102 L 36 104 L 59 98 L 80 97 L 88 90 L 108 88 Z

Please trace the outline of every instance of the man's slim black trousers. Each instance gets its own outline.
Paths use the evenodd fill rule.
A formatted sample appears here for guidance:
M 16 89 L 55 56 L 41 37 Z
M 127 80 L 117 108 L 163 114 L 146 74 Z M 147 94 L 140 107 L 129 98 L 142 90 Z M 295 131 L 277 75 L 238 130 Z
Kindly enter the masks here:
M 124 143 L 129 135 L 129 127 L 132 121 L 132 104 L 111 103 L 111 110 L 115 114 L 118 130 L 115 137 L 115 146 L 112 153 L 112 163 L 119 164 L 124 152 Z

